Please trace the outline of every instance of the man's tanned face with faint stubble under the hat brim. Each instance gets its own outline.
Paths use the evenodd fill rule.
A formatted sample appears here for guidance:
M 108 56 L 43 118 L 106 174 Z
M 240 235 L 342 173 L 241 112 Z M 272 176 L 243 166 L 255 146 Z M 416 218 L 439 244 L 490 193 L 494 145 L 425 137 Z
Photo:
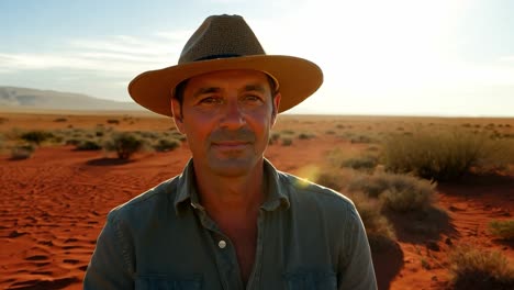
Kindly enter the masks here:
M 172 110 L 195 170 L 225 177 L 248 174 L 262 160 L 279 102 L 280 94 L 273 99 L 261 71 L 221 70 L 190 78 L 181 109 L 172 100 Z

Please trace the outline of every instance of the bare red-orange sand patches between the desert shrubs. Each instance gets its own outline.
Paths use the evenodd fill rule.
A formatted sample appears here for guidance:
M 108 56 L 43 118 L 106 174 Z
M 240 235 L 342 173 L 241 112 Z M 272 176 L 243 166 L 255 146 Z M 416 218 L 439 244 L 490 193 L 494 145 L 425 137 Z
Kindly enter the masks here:
M 21 124 L 24 127 L 29 122 Z M 302 122 L 295 130 L 327 124 L 333 122 Z M 160 126 L 169 127 L 170 123 Z M 303 176 L 335 146 L 356 145 L 342 144 L 321 133 L 314 140 L 294 140 L 290 147 L 271 145 L 266 156 L 278 169 Z M 104 158 L 101 152 L 76 152 L 69 146 L 42 147 L 25 160 L 0 156 L 0 288 L 81 289 L 109 210 L 179 174 L 189 156 L 186 146 L 169 153 L 139 154 L 130 163 Z M 513 176 L 440 185 L 438 192 L 438 204 L 448 210 L 451 230 L 434 242 L 440 250 L 428 249 L 428 241 L 412 238 L 412 243 L 400 243 L 402 252 L 375 256 L 380 289 L 446 288 L 446 237 L 452 244 L 473 243 L 501 250 L 513 260 L 512 245 L 487 232 L 491 220 L 511 217 Z

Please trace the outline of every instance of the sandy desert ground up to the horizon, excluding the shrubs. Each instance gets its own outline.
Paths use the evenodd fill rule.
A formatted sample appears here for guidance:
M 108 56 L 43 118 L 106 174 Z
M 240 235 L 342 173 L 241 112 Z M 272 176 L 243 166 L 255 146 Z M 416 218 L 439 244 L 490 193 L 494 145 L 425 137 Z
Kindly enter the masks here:
M 335 148 L 351 156 L 379 147 L 373 140 L 388 132 L 411 132 L 421 125 L 490 126 L 506 136 L 514 133 L 514 119 L 291 114 L 279 116 L 273 132 L 280 133 L 282 142 L 271 143 L 265 155 L 279 170 L 315 180 Z M 108 212 L 180 174 L 190 158 L 187 142 L 172 150 L 142 150 L 120 160 L 113 153 L 77 150 L 59 140 L 40 144 L 29 158 L 12 158 L 9 148 L 14 136 L 29 130 L 63 134 L 170 132 L 174 123 L 135 112 L 0 113 L 0 288 L 81 289 Z M 105 136 L 92 133 L 89 137 Z M 287 145 L 284 136 L 289 136 Z M 345 168 L 340 175 L 351 178 L 357 174 Z M 510 265 L 514 261 L 512 239 L 498 238 L 488 231 L 491 221 L 512 219 L 512 165 L 501 171 L 438 182 L 435 190 L 436 205 L 447 219 L 438 231 L 416 235 L 415 231 L 403 231 L 410 215 L 392 217 L 394 246 L 373 250 L 380 289 L 451 289 L 448 253 L 457 244 L 496 250 Z

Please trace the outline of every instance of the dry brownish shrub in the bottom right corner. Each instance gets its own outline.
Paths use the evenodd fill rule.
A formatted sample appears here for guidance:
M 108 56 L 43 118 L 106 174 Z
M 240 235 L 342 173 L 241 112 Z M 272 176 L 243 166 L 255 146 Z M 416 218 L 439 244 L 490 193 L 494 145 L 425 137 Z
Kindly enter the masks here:
M 514 289 L 514 270 L 499 252 L 456 246 L 449 255 L 449 269 L 455 289 Z

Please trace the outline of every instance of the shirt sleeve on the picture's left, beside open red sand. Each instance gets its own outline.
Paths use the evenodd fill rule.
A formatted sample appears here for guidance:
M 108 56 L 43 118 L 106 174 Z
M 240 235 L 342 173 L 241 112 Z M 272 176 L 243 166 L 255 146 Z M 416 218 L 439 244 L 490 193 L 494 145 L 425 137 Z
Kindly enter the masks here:
M 134 289 L 133 255 L 115 212 L 97 241 L 97 247 L 83 278 L 83 289 Z

